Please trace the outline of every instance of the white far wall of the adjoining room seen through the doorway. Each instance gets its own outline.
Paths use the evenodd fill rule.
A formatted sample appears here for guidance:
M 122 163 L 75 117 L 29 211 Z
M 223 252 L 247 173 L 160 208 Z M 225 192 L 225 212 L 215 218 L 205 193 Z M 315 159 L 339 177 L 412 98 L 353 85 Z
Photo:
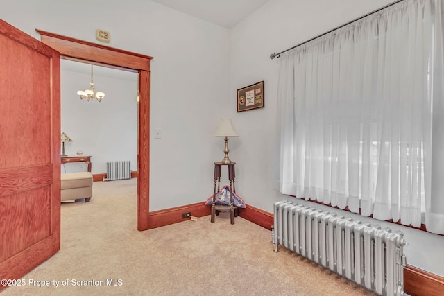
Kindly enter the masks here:
M 60 61 L 61 130 L 73 140 L 65 154 L 91 155 L 92 173 L 106 173 L 106 162 L 129 160 L 137 171 L 137 73 L 94 66 L 99 103 L 80 100 L 79 89 L 89 89 L 91 65 Z M 84 163 L 62 165 L 63 173 L 86 171 Z

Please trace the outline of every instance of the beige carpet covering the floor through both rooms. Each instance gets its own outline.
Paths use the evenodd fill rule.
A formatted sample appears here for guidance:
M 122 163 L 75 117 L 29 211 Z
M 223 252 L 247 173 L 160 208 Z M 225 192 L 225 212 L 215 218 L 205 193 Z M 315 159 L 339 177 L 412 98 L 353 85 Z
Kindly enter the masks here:
M 275 253 L 271 232 L 243 218 L 230 225 L 221 213 L 215 223 L 205 217 L 137 232 L 136 180 L 93 188 L 91 202 L 62 204 L 60 252 L 1 296 L 373 295 L 284 247 Z

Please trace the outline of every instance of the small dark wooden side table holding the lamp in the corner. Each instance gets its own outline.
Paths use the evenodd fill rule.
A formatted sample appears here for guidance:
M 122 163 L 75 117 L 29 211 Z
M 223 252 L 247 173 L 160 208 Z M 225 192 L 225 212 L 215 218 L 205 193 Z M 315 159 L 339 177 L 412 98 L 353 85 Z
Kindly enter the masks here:
M 214 190 L 213 190 L 213 202 L 211 206 L 211 222 L 214 223 L 214 216 L 216 216 L 216 211 L 230 211 L 230 222 L 234 224 L 234 210 L 237 207 L 233 206 L 233 192 L 236 192 L 236 187 L 234 185 L 234 180 L 236 176 L 234 175 L 235 162 L 230 164 L 223 164 L 222 162 L 214 162 Z M 230 181 L 230 204 L 216 204 L 216 193 L 219 192 L 221 184 L 221 170 L 222 166 L 228 166 L 228 180 Z M 217 185 L 217 191 L 216 191 Z

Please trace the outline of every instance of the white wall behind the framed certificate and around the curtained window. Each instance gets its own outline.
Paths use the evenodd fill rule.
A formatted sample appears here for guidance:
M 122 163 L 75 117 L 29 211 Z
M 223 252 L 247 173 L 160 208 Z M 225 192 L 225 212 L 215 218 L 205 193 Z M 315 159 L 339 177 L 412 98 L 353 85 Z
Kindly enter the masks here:
M 273 213 L 278 200 L 296 200 L 273 190 L 273 159 L 276 94 L 279 59 L 269 55 L 280 52 L 312 37 L 332 30 L 361 15 L 391 3 L 391 0 L 270 0 L 231 31 L 230 112 L 239 130 L 239 147 L 231 149 L 237 161 L 237 191 L 247 204 Z M 237 113 L 236 91 L 265 80 L 265 108 Z M 233 148 L 233 147 L 232 147 Z M 330 207 L 303 202 L 311 207 L 335 211 Z M 444 276 L 444 236 L 421 232 L 393 223 L 355 216 L 336 210 L 344 216 L 366 220 L 372 225 L 401 229 L 409 246 L 404 248 L 409 264 Z

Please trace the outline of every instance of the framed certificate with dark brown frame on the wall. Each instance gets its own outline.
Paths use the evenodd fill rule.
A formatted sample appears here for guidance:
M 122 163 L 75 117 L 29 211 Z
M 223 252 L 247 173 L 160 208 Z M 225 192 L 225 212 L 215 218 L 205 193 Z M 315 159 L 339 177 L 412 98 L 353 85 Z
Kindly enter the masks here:
M 265 107 L 264 81 L 237 89 L 237 112 Z

